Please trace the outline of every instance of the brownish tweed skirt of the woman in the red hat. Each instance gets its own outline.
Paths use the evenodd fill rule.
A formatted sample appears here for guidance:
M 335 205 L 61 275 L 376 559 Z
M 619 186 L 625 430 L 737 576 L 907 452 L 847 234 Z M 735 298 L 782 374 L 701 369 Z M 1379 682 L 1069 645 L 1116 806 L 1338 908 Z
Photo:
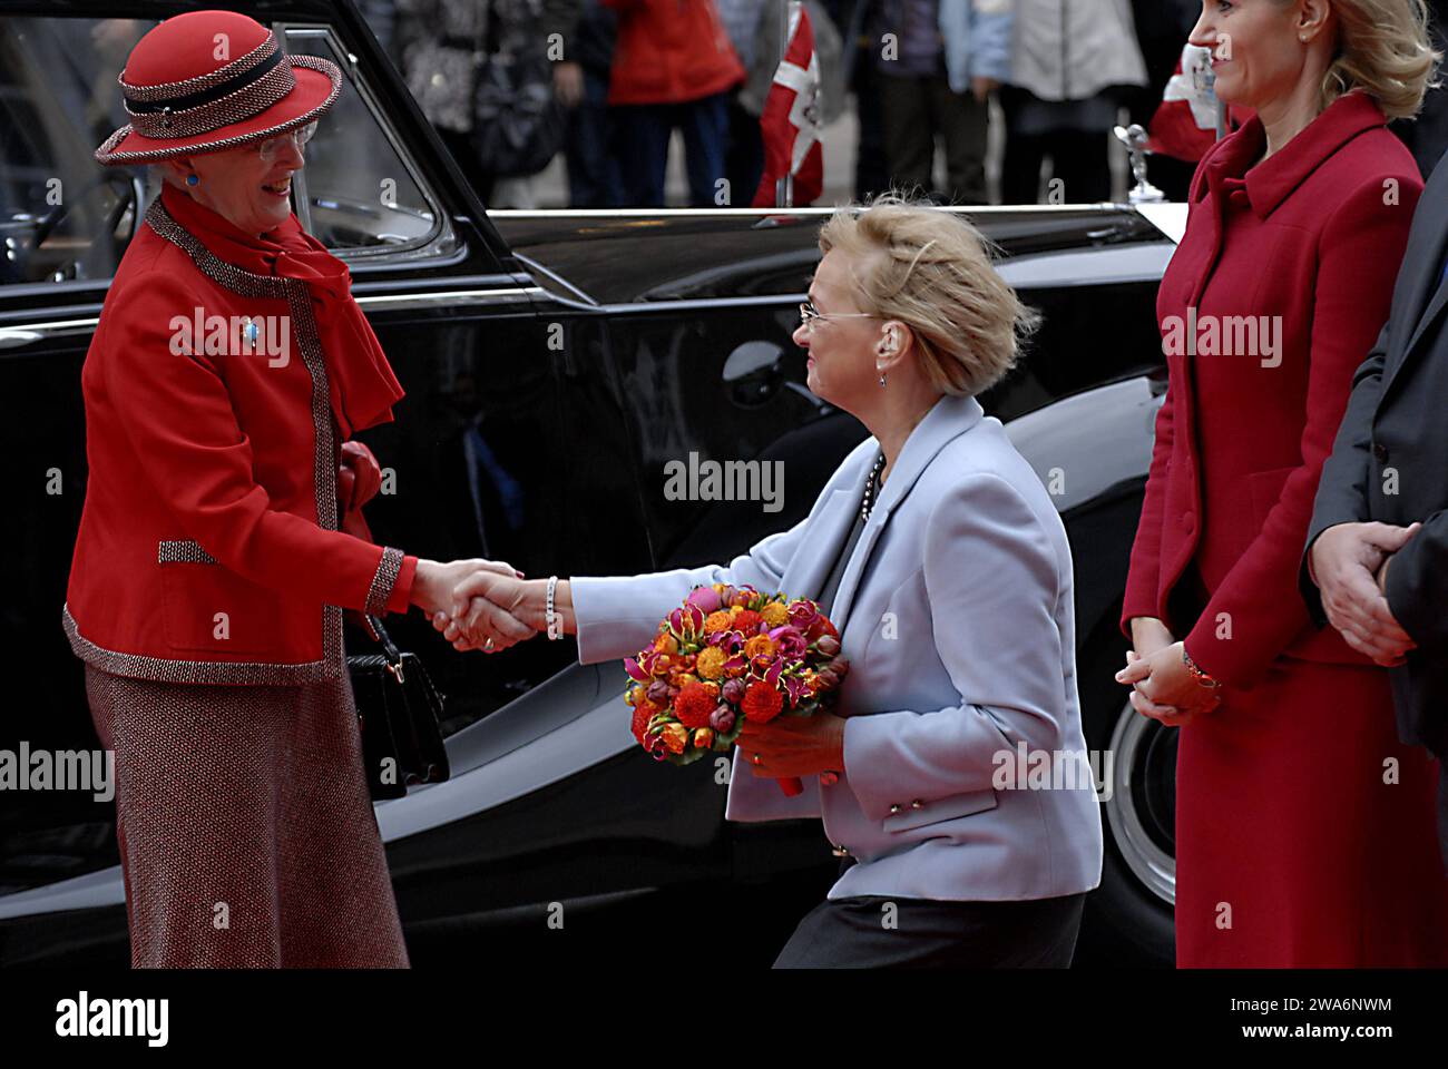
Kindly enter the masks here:
M 169 684 L 85 665 L 116 755 L 133 968 L 407 968 L 350 681 Z

